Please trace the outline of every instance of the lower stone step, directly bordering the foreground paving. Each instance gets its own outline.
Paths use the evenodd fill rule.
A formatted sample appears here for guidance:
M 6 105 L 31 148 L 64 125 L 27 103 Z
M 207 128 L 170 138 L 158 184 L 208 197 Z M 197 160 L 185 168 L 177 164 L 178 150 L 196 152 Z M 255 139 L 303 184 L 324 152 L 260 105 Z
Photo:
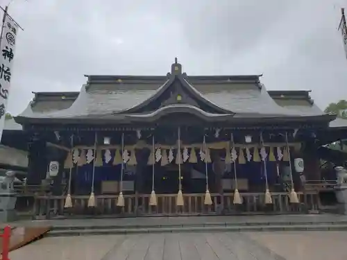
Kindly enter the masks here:
M 278 231 L 347 231 L 347 225 L 258 225 L 258 226 L 205 226 L 205 227 L 149 227 L 117 229 L 56 229 L 46 236 L 86 236 L 108 234 L 146 234 L 174 232 L 278 232 Z

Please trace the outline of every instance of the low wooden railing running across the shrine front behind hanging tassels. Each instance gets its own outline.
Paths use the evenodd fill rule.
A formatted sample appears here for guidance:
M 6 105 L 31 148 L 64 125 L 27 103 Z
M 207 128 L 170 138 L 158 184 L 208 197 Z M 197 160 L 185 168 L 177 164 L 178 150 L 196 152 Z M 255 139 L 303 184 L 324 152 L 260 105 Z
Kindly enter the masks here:
M 36 218 L 58 216 L 196 216 L 222 214 L 288 214 L 317 210 L 317 193 L 298 193 L 301 203 L 290 205 L 288 193 L 271 193 L 273 205 L 264 205 L 264 193 L 242 193 L 243 205 L 233 205 L 232 193 L 212 193 L 213 205 L 204 205 L 203 193 L 184 193 L 185 205 L 176 206 L 176 194 L 158 194 L 158 205 L 149 206 L 149 195 L 124 196 L 125 207 L 117 207 L 117 196 L 96 196 L 96 207 L 88 208 L 89 196 L 72 196 L 74 207 L 65 209 L 65 196 L 35 196 L 33 214 Z

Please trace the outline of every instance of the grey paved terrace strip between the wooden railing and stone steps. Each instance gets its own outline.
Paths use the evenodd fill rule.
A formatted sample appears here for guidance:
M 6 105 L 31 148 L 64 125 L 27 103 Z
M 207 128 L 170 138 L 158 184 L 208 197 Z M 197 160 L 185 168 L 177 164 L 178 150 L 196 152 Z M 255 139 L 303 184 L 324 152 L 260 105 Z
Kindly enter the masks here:
M 179 216 L 179 217 L 143 217 L 143 218 L 83 218 L 65 220 L 25 220 L 10 223 L 15 226 L 49 225 L 54 227 L 67 226 L 122 226 L 126 227 L 138 225 L 201 225 L 204 223 L 338 223 L 347 222 L 347 216 L 334 214 L 319 215 L 258 215 L 258 216 Z M 5 225 L 5 224 L 3 224 Z

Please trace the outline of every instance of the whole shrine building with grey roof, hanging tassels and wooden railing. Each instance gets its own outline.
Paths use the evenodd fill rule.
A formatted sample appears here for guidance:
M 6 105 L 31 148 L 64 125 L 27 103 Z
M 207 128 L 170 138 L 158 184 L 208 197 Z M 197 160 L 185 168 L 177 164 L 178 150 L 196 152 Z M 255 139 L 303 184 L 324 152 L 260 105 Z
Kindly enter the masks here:
M 39 92 L 15 117 L 28 137 L 37 216 L 306 212 L 319 207 L 319 148 L 346 138 L 309 91 L 259 75 L 87 75 Z M 53 212 L 53 213 L 52 213 Z

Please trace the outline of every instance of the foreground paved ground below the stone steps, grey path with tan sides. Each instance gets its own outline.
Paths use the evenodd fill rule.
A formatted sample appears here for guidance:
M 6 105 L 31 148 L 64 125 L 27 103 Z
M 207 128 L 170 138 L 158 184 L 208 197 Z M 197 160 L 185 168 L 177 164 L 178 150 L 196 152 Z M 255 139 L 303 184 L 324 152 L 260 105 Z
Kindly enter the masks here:
M 346 260 L 347 232 L 177 233 L 47 238 L 11 260 Z

